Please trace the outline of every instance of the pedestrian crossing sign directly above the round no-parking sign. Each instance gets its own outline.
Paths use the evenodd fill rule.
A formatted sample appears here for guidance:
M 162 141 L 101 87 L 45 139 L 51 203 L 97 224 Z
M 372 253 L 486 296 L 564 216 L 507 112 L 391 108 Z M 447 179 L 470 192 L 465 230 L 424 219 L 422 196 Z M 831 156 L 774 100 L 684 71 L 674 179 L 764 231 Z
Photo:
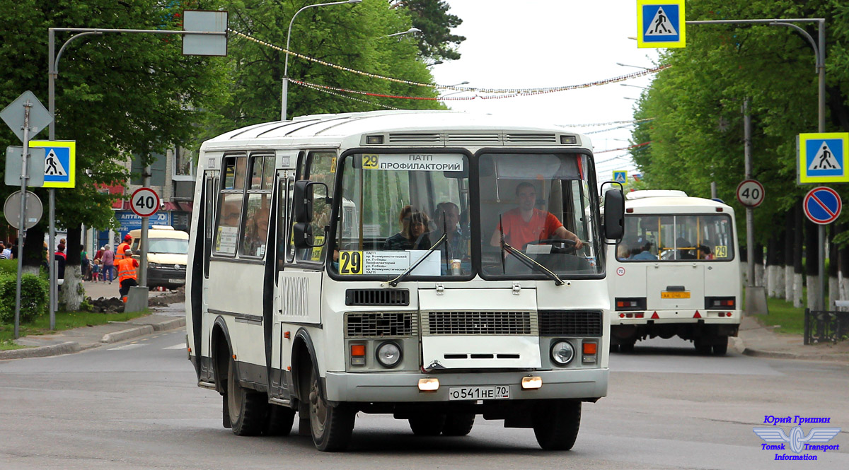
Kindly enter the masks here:
M 849 182 L 849 171 L 846 171 L 847 146 L 849 132 L 799 134 L 797 182 Z

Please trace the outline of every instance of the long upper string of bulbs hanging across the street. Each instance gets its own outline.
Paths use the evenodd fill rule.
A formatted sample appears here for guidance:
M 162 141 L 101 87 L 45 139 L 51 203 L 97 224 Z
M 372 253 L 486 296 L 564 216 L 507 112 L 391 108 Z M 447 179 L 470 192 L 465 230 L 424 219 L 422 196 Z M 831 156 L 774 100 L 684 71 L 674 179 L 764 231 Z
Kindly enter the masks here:
M 619 81 L 627 81 L 627 80 L 631 80 L 632 78 L 638 78 L 638 77 L 641 77 L 641 76 L 647 76 L 647 75 L 650 75 L 650 74 L 655 74 L 655 73 L 657 73 L 661 70 L 665 70 L 665 69 L 672 66 L 672 65 L 661 65 L 660 67 L 639 70 L 639 71 L 636 71 L 636 72 L 633 72 L 633 73 L 630 73 L 630 74 L 626 74 L 626 75 L 622 75 L 622 76 L 616 76 L 616 77 L 609 78 L 609 79 L 606 79 L 606 80 L 591 81 L 589 83 L 582 83 L 580 85 L 567 85 L 567 86 L 562 86 L 562 87 L 537 87 L 537 88 L 458 87 L 458 86 L 451 86 L 451 85 L 438 85 L 438 84 L 433 84 L 433 83 L 421 83 L 419 81 L 401 80 L 401 79 L 392 78 L 392 77 L 389 77 L 389 76 L 380 76 L 380 75 L 377 75 L 377 74 L 363 72 L 362 70 L 356 70 L 356 69 L 351 69 L 349 67 L 343 67 L 342 65 L 332 64 L 332 63 L 324 61 L 324 60 L 315 59 L 315 58 L 306 56 L 306 55 L 301 54 L 301 53 L 295 53 L 295 52 L 286 50 L 286 49 L 281 48 L 279 46 L 276 46 L 276 45 L 274 45 L 270 42 L 261 41 L 259 39 L 256 39 L 256 37 L 248 36 L 247 34 L 245 34 L 243 32 L 233 30 L 233 28 L 228 28 L 227 31 L 233 32 L 233 34 L 235 34 L 237 36 L 244 37 L 245 39 L 247 39 L 249 41 L 253 41 L 253 42 L 256 42 L 256 43 L 261 44 L 263 46 L 266 46 L 267 48 L 273 48 L 273 49 L 278 50 L 282 53 L 290 54 L 292 56 L 297 57 L 298 59 L 308 60 L 308 61 L 314 62 L 316 64 L 321 64 L 321 65 L 325 65 L 325 66 L 328 66 L 328 67 L 332 67 L 336 70 L 344 70 L 346 72 L 351 72 L 351 73 L 362 75 L 362 76 L 368 76 L 369 78 L 378 78 L 380 80 L 393 81 L 393 82 L 396 82 L 396 83 L 402 83 L 404 85 L 412 85 L 412 86 L 415 86 L 415 87 L 435 88 L 437 90 L 452 90 L 452 91 L 457 91 L 457 92 L 498 93 L 499 95 L 501 95 L 501 96 L 496 96 L 496 97 L 458 97 L 458 99 L 459 98 L 466 98 L 466 99 L 514 98 L 515 96 L 531 96 L 531 95 L 538 95 L 538 94 L 552 93 L 552 92 L 565 92 L 565 91 L 568 91 L 568 90 L 576 90 L 576 89 L 580 89 L 580 88 L 598 87 L 600 85 L 607 85 L 609 83 L 617 83 Z M 381 95 L 373 95 L 373 96 L 381 96 Z M 385 98 L 417 99 L 417 98 L 422 98 L 422 97 L 388 96 L 388 97 L 385 97 Z M 436 100 L 438 98 L 424 98 L 424 99 Z M 449 99 L 449 98 L 442 98 L 442 99 L 445 100 L 445 99 Z

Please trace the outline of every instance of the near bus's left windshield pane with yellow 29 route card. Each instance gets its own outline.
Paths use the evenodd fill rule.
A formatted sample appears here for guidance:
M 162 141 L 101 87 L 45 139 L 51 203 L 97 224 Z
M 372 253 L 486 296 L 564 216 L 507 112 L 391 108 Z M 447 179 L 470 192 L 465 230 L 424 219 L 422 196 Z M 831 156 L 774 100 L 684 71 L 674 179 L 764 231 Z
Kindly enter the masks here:
M 332 270 L 394 277 L 420 260 L 410 277 L 471 275 L 466 155 L 352 154 L 339 171 Z

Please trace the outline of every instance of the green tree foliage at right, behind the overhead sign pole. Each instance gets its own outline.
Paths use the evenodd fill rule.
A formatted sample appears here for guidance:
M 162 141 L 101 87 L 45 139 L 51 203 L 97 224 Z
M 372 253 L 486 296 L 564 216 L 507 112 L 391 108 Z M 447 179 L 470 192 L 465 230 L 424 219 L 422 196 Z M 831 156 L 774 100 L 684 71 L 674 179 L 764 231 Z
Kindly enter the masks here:
M 849 130 L 849 5 L 836 0 L 755 0 L 688 4 L 688 20 L 825 18 L 827 25 L 825 131 Z M 815 40 L 816 23 L 797 24 Z M 816 132 L 818 76 L 811 45 L 798 32 L 770 25 L 689 25 L 687 47 L 669 49 L 661 71 L 644 93 L 636 118 L 634 160 L 649 187 L 717 195 L 736 209 L 745 239 L 743 206 L 735 189 L 745 178 L 743 115 L 752 118 L 752 176 L 765 186 L 755 210 L 756 238 L 766 243 L 784 230 L 784 211 L 801 204 L 810 187 L 796 185 L 796 135 Z M 839 189 L 844 197 L 846 188 Z

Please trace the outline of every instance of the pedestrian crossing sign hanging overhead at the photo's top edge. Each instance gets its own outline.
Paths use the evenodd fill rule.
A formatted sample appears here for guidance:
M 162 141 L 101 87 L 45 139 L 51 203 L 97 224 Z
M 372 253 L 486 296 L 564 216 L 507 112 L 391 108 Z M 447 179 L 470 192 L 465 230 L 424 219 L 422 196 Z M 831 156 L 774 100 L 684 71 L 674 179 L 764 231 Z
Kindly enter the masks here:
M 683 48 L 684 0 L 637 0 L 637 47 Z

